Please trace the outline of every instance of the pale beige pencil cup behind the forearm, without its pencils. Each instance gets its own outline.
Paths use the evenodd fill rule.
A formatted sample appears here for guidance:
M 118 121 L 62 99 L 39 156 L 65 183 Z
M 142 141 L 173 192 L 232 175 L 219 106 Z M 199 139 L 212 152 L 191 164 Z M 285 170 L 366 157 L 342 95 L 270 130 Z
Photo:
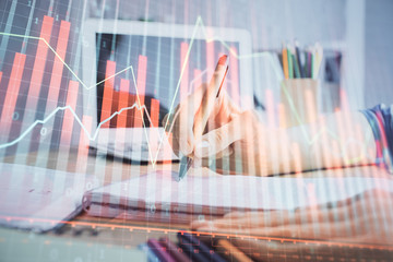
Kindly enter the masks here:
M 313 79 L 285 79 L 282 81 L 281 127 L 291 128 L 317 120 L 319 86 L 319 81 Z

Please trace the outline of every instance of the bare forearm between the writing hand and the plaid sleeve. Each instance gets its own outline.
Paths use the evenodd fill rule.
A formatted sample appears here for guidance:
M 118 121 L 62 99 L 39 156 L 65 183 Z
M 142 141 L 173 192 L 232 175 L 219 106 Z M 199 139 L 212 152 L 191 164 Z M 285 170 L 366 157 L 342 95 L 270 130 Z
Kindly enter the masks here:
M 361 112 L 326 115 L 315 123 L 295 127 L 287 132 L 293 144 L 291 157 L 300 162 L 302 170 L 376 160 L 372 131 Z

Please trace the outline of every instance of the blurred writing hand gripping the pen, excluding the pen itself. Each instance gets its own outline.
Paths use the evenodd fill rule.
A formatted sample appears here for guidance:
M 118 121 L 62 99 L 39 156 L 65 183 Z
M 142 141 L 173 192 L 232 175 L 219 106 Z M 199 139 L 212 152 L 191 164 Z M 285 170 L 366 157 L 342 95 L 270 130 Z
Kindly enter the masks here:
M 168 122 L 167 131 L 172 132 L 174 152 L 191 155 L 202 166 L 223 174 L 265 176 L 282 171 L 283 159 L 277 158 L 279 154 L 271 154 L 270 148 L 288 152 L 290 143 L 286 143 L 285 132 L 266 129 L 252 110 L 241 111 L 224 90 L 204 133 L 194 132 L 195 115 L 206 88 L 206 84 L 201 85 L 165 117 L 164 126 Z

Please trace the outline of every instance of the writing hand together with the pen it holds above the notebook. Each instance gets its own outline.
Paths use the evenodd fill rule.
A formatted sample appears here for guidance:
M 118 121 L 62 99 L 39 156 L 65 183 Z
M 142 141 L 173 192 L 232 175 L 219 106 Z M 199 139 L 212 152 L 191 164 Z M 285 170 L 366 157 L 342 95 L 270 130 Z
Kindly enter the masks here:
M 221 88 L 227 69 L 224 59 L 221 58 L 212 81 L 198 87 L 164 119 L 172 134 L 172 150 L 180 157 L 179 179 L 191 166 L 192 171 L 198 169 L 202 175 L 270 175 L 271 163 L 276 159 L 267 154 L 267 146 L 285 141 L 274 140 L 277 135 L 274 131 L 266 143 L 267 130 L 253 110 L 241 111 L 226 90 Z M 201 166 L 210 169 L 198 168 Z

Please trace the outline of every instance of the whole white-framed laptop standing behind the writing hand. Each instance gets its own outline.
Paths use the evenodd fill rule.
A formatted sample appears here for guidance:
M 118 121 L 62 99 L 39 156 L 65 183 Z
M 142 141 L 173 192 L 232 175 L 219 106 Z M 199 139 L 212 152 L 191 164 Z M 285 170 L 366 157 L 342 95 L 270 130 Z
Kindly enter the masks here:
M 252 105 L 250 34 L 238 28 L 87 20 L 83 25 L 83 114 L 91 146 L 139 163 L 177 160 L 163 119 L 209 82 L 219 55 L 229 55 L 225 88 Z M 241 88 L 239 87 L 241 86 Z

